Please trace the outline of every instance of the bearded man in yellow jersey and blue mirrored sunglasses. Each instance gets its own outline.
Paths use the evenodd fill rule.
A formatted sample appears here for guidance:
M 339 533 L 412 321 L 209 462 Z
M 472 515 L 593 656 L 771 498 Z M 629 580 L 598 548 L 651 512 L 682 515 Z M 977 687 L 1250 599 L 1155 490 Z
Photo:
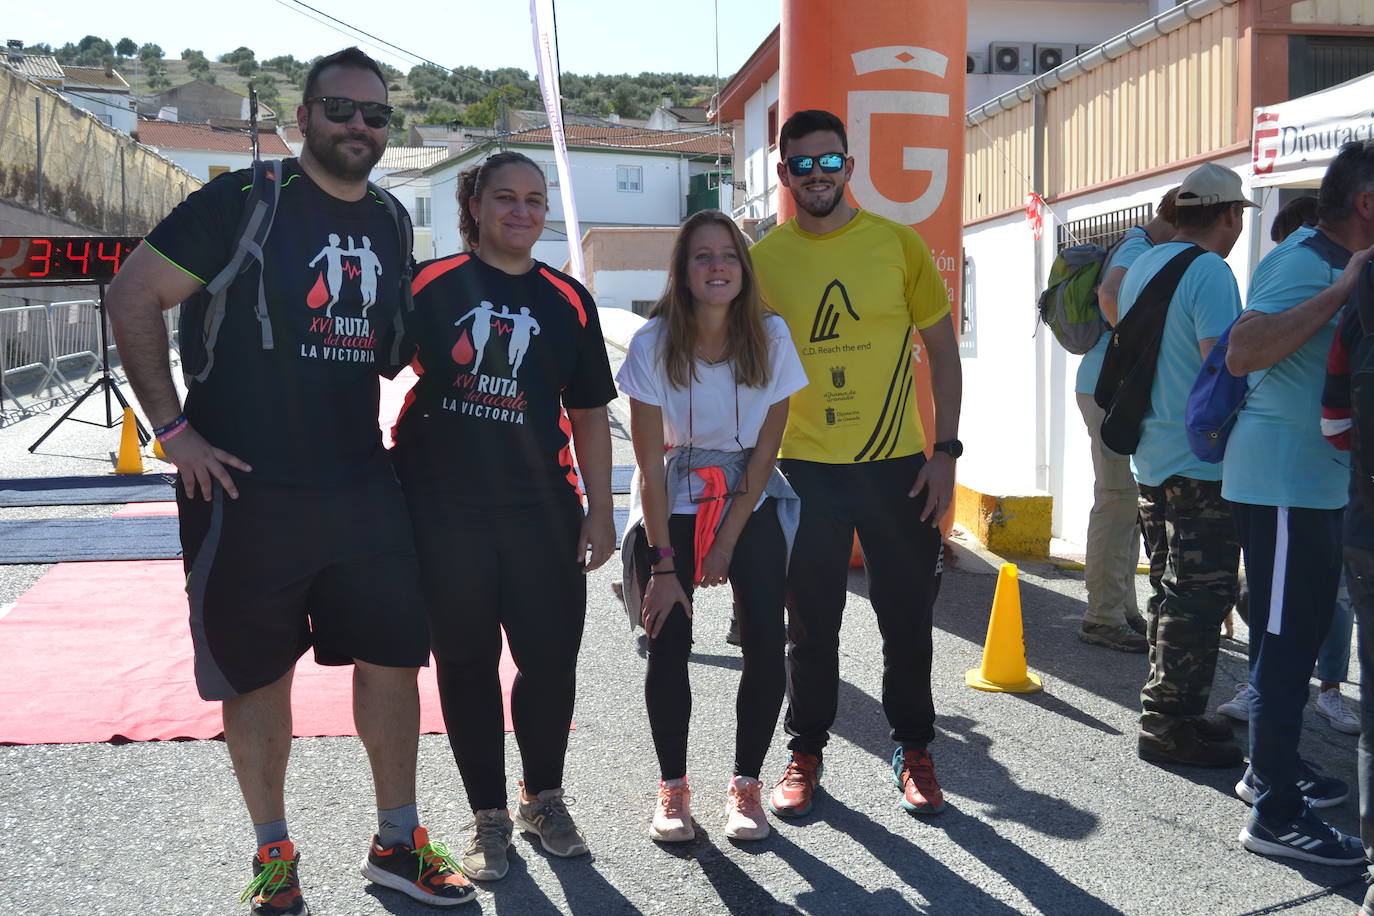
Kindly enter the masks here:
M 778 137 L 778 177 L 797 216 L 753 247 L 768 305 L 786 319 L 811 385 L 791 396 L 779 467 L 801 497 L 787 571 L 791 751 L 769 808 L 812 809 L 835 720 L 840 623 L 855 533 L 882 632 L 882 706 L 897 748 L 892 779 L 912 814 L 945 808 L 926 750 L 932 607 L 940 589 L 940 516 L 962 455 L 959 349 L 944 283 L 921 236 L 845 201 L 855 161 L 844 122 L 798 111 Z M 929 354 L 933 455 L 916 412 L 912 328 Z

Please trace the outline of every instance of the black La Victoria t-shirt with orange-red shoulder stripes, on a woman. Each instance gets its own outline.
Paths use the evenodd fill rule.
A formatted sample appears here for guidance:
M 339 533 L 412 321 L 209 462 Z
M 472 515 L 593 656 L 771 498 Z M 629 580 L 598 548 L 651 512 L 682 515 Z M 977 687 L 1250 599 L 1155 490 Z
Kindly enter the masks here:
M 484 507 L 577 489 L 565 408 L 616 397 L 591 294 L 547 264 L 511 276 L 471 253 L 420 265 L 414 291 L 387 367 L 419 375 L 396 422 L 401 482 Z

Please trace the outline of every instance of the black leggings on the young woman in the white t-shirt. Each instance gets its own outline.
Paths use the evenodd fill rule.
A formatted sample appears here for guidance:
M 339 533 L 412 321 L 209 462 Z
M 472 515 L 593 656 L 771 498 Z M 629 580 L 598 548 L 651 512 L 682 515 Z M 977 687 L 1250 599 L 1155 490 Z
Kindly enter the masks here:
M 691 597 L 697 570 L 695 515 L 668 519 L 668 538 L 675 552 L 677 581 Z M 639 564 L 647 584 L 647 541 L 639 540 L 644 563 Z M 749 518 L 730 560 L 730 584 L 735 591 L 739 640 L 745 666 L 735 695 L 735 773 L 758 779 L 778 711 L 786 691 L 782 602 L 786 586 L 787 545 L 778 525 L 774 500 Z M 691 684 L 687 656 L 691 654 L 691 619 L 679 604 L 664 621 L 658 636 L 649 640 L 649 672 L 644 676 L 644 703 L 654 735 L 662 779 L 687 773 L 687 725 L 691 720 Z

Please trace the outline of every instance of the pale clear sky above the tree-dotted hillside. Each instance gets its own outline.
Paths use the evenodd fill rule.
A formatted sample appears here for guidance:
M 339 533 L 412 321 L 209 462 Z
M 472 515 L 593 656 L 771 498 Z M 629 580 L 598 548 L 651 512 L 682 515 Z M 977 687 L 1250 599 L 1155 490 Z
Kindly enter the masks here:
M 521 67 L 533 74 L 528 0 L 305 0 L 316 10 L 445 66 Z M 720 77 L 728 80 L 778 25 L 780 0 L 719 0 Z M 317 22 L 293 0 L 5 4 L 4 34 L 60 47 L 85 34 L 111 43 L 153 41 L 169 56 L 195 48 L 209 56 L 247 45 L 258 59 L 309 59 L 359 44 L 401 70 L 416 63 L 365 38 Z M 573 73 L 716 73 L 713 0 L 555 0 L 562 69 Z M 232 11 L 232 14 L 229 12 Z M 236 15 L 235 15 L 236 14 Z M 313 18 L 311 18 L 313 16 Z

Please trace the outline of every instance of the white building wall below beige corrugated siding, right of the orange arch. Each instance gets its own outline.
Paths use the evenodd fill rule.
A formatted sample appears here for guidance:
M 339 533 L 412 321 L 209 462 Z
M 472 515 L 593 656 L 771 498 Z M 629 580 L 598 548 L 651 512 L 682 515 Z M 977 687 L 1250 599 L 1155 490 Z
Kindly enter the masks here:
M 1248 183 L 1248 155 L 1217 162 Z M 1191 168 L 1051 205 L 1054 210 L 1046 214 L 1039 243 L 1030 239 L 1024 214 L 965 231 L 965 251 L 973 261 L 969 283 L 973 335 L 960 342 L 966 356 L 959 434 L 966 450 L 959 459 L 959 478 L 985 493 L 1048 492 L 1054 497 L 1054 537 L 1074 544 L 1087 540 L 1092 461 L 1073 390 L 1081 357 L 1061 347 L 1048 328 L 1036 327 L 1035 302 L 1040 290 L 1035 260 L 1041 261 L 1040 276 L 1048 276 L 1061 220 L 1158 203 L 1189 172 Z M 1259 220 L 1246 216 L 1245 231 L 1227 257 L 1242 301 L 1257 262 L 1256 251 L 1272 247 L 1268 229 L 1276 209 L 1274 201 Z

